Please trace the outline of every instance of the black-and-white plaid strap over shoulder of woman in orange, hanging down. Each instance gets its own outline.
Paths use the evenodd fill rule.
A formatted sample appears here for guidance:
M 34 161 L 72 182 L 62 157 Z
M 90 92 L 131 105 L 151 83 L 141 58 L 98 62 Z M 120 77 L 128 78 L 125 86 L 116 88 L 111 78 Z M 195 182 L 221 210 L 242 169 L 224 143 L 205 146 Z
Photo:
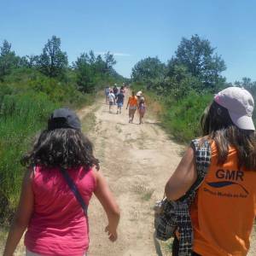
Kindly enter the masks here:
M 195 164 L 197 178 L 188 192 L 177 201 L 177 226 L 180 233 L 178 256 L 190 256 L 193 247 L 193 227 L 191 223 L 189 207 L 195 200 L 197 189 L 201 186 L 211 164 L 211 145 L 205 141 L 195 139 L 191 142 L 195 151 Z

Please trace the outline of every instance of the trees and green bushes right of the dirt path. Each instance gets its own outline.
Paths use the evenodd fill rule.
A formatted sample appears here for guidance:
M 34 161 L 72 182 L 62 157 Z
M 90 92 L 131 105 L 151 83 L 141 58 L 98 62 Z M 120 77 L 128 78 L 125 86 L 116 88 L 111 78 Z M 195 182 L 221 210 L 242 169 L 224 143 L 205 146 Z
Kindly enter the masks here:
M 256 82 L 243 78 L 234 84 L 222 75 L 224 60 L 211 43 L 198 35 L 182 38 L 175 54 L 167 63 L 156 57 L 138 61 L 132 68 L 134 90 L 146 92 L 146 103 L 154 108 L 166 131 L 179 142 L 188 143 L 201 135 L 200 120 L 212 97 L 229 86 L 240 86 L 256 96 Z M 153 109 L 154 110 L 154 109 Z M 254 120 L 256 113 L 254 111 Z

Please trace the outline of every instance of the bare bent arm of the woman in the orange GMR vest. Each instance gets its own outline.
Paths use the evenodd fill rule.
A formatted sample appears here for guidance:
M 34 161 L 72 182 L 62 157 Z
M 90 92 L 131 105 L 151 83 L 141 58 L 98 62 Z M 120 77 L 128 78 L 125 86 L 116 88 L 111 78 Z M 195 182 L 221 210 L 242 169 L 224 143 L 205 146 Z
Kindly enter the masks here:
M 194 150 L 189 147 L 172 177 L 166 183 L 166 197 L 172 201 L 179 199 L 195 183 L 196 177 Z

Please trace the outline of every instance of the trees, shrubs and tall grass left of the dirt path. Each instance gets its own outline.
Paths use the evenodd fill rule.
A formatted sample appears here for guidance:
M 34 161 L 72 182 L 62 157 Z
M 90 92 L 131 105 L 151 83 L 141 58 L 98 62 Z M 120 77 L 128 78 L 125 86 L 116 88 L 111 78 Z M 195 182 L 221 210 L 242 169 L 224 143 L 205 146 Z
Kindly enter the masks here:
M 53 36 L 41 55 L 19 56 L 4 40 L 0 47 L 0 224 L 8 224 L 25 168 L 20 158 L 45 128 L 55 108 L 80 108 L 106 84 L 125 82 L 109 52 L 82 53 L 68 65 L 61 39 Z

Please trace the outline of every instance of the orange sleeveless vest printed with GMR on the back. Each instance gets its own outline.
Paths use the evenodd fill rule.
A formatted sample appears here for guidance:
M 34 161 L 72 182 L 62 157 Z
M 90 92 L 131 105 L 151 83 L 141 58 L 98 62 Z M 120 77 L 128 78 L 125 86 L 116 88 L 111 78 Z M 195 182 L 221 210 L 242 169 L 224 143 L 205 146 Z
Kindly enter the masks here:
M 212 143 L 212 162 L 191 207 L 193 251 L 203 256 L 243 256 L 256 213 L 256 170 L 238 168 L 236 148 L 217 164 Z

